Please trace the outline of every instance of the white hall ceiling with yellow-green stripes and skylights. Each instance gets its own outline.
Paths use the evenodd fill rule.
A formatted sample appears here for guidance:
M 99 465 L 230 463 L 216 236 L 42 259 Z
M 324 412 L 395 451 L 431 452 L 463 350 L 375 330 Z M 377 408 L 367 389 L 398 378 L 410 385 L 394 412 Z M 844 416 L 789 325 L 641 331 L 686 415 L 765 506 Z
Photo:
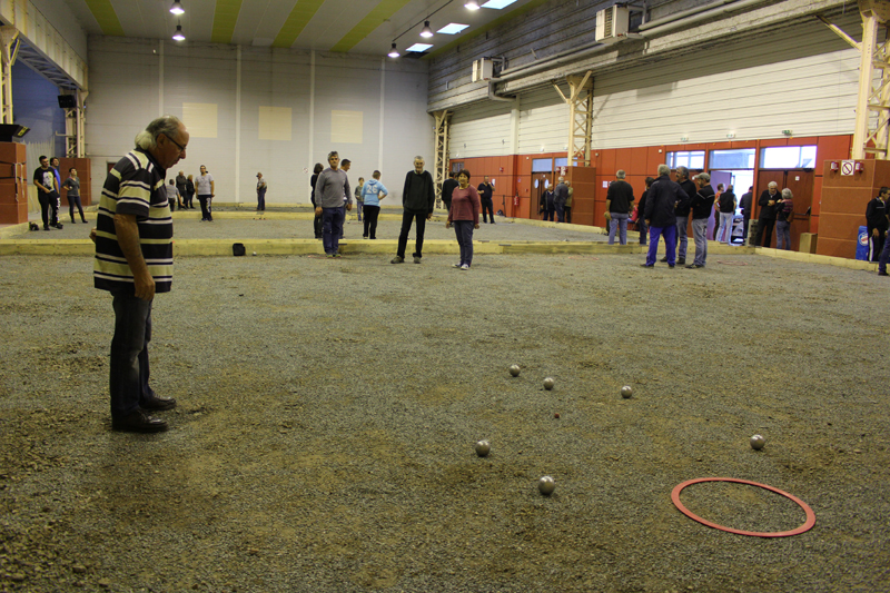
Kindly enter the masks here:
M 448 49 L 547 0 L 65 0 L 88 34 L 170 40 L 181 23 L 187 41 L 386 55 L 428 43 L 428 53 Z M 487 4 L 487 6 L 486 6 Z M 497 8 L 500 7 L 500 8 Z M 434 36 L 419 37 L 429 20 Z M 447 34 L 455 23 L 468 26 Z M 399 37 L 400 36 L 400 37 Z M 398 38 L 398 39 L 396 39 Z

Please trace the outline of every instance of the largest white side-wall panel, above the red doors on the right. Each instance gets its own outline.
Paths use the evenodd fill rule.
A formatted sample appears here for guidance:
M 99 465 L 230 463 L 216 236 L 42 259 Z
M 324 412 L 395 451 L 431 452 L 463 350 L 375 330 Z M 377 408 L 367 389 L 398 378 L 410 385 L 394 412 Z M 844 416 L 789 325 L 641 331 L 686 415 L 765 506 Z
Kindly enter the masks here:
M 858 52 L 819 33 L 801 28 L 600 76 L 593 146 L 851 134 Z

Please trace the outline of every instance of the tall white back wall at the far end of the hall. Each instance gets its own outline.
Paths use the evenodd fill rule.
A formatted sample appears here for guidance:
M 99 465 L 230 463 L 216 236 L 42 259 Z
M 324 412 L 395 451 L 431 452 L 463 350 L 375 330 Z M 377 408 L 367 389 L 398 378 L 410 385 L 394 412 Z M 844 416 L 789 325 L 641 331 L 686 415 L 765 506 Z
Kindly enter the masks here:
M 165 43 L 161 56 L 158 41 L 90 38 L 87 156 L 93 159 L 93 189 L 105 179 L 106 161 L 116 161 L 130 150 L 146 123 L 161 111 L 184 117 L 186 103 L 217 106 L 217 138 L 191 138 L 187 159 L 176 170 L 196 175 L 198 167 L 206 165 L 216 180 L 219 201 L 235 201 L 238 195 L 243 202 L 253 202 L 256 174 L 261 171 L 269 185 L 269 204 L 308 202 L 312 171 L 305 170 L 306 164 L 326 164 L 329 150 L 353 161 L 353 184 L 358 177 L 369 178 L 380 164 L 402 171 L 400 177 L 418 154 L 428 155 L 432 167 L 433 122 L 426 113 L 425 63 L 387 63 L 384 71 L 383 60 L 376 57 L 315 55 L 315 116 L 310 122 L 312 55 L 241 48 L 238 113 L 237 49 Z M 260 139 L 260 108 L 276 108 L 279 113 L 289 110 L 289 135 Z M 362 113 L 360 129 L 350 141 L 332 142 L 334 111 Z M 238 116 L 240 130 L 236 130 Z M 236 152 L 240 164 L 237 176 Z M 382 170 L 387 177 L 389 171 Z M 390 182 L 393 179 L 387 177 Z M 396 186 L 400 199 L 400 184 Z

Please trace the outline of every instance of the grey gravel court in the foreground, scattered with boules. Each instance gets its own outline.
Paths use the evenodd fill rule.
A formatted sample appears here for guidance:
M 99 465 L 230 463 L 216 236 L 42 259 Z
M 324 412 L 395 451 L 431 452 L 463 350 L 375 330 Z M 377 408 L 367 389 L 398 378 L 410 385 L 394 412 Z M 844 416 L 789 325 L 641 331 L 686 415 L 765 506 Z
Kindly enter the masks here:
M 109 431 L 90 259 L 4 257 L 0 586 L 890 590 L 887 373 L 867 349 L 884 279 L 642 258 L 180 258 L 151 344 L 180 405 L 140 436 Z M 699 525 L 670 494 L 704 476 L 799 496 L 815 527 Z M 752 486 L 683 502 L 735 528 L 804 520 Z

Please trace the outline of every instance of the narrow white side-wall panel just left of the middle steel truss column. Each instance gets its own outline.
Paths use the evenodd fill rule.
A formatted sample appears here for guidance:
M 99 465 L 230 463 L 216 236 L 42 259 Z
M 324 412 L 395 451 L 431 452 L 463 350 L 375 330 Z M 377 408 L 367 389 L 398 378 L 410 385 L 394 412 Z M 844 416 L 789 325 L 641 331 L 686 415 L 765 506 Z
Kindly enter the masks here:
M 567 89 L 563 93 L 568 95 Z M 520 98 L 518 152 L 558 152 L 568 142 L 568 106 L 553 86 Z

